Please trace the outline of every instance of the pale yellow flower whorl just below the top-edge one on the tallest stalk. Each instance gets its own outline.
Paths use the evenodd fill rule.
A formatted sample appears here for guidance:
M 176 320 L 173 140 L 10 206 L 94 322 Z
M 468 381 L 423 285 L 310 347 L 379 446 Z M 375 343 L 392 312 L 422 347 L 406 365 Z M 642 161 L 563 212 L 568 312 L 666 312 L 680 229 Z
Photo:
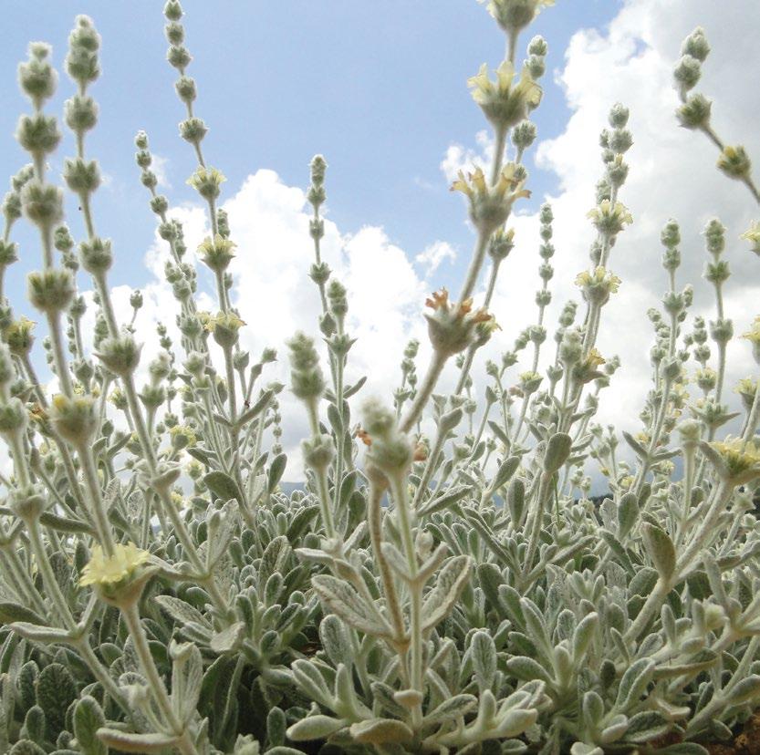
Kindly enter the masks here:
M 515 67 L 508 60 L 496 68 L 496 78 L 488 76 L 484 63 L 477 75 L 468 80 L 474 101 L 480 105 L 485 117 L 495 129 L 509 129 L 525 119 L 531 109 L 541 101 L 541 88 L 523 67 L 520 80 L 515 84 Z

